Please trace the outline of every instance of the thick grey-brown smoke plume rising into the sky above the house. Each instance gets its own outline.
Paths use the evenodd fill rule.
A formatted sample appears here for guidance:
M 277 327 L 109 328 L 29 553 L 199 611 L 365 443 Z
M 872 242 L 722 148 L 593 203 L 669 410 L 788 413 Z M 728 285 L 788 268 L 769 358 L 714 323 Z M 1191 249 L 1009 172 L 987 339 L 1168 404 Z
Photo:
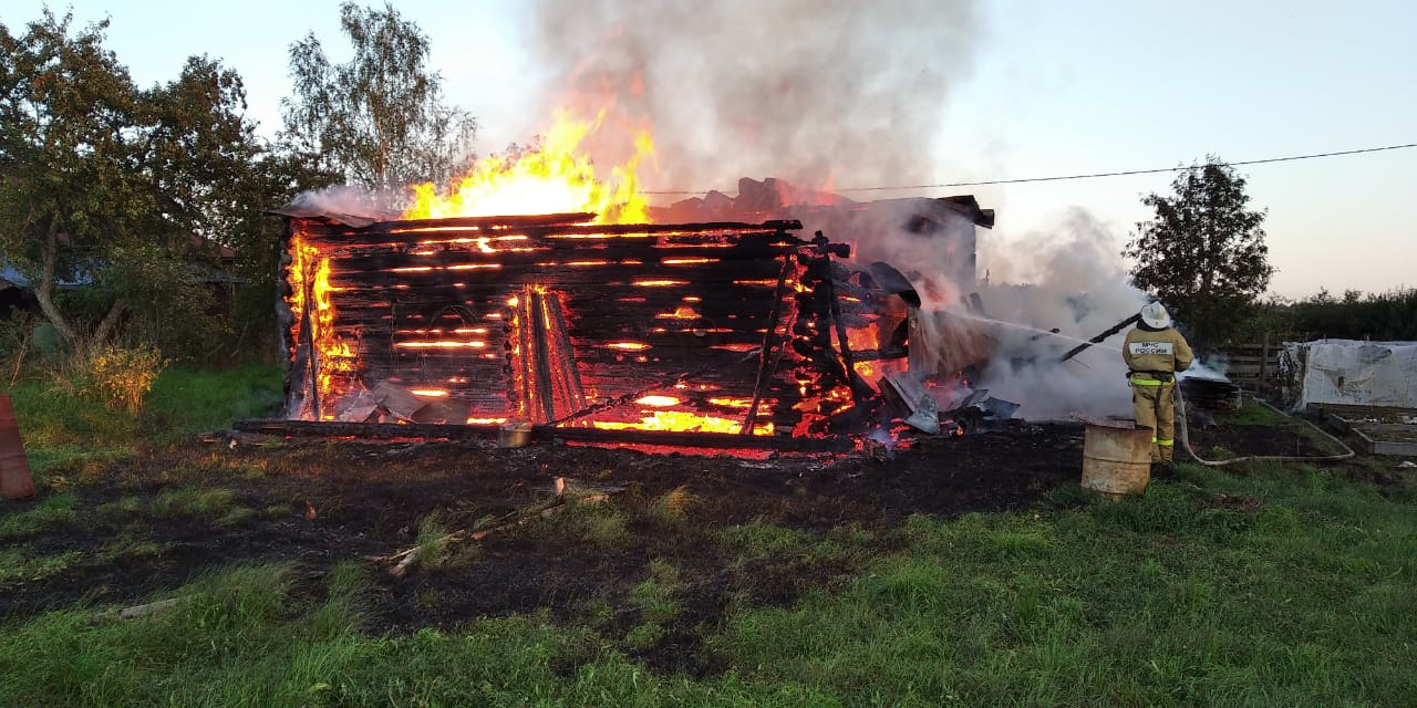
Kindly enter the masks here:
M 540 0 L 531 13 L 530 50 L 554 76 L 546 108 L 608 105 L 608 120 L 650 125 L 657 188 L 927 178 L 979 33 L 972 0 Z

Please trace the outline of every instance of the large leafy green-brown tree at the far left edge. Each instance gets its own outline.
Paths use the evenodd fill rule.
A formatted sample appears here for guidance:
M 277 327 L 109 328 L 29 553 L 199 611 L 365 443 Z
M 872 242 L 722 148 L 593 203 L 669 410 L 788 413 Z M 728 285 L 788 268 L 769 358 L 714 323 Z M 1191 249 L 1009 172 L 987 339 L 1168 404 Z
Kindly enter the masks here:
M 252 210 L 238 185 L 261 146 L 235 72 L 193 57 L 140 89 L 103 47 L 106 21 L 71 24 L 48 10 L 24 34 L 0 24 L 0 248 L 79 350 L 125 314 L 205 313 L 191 268 Z

